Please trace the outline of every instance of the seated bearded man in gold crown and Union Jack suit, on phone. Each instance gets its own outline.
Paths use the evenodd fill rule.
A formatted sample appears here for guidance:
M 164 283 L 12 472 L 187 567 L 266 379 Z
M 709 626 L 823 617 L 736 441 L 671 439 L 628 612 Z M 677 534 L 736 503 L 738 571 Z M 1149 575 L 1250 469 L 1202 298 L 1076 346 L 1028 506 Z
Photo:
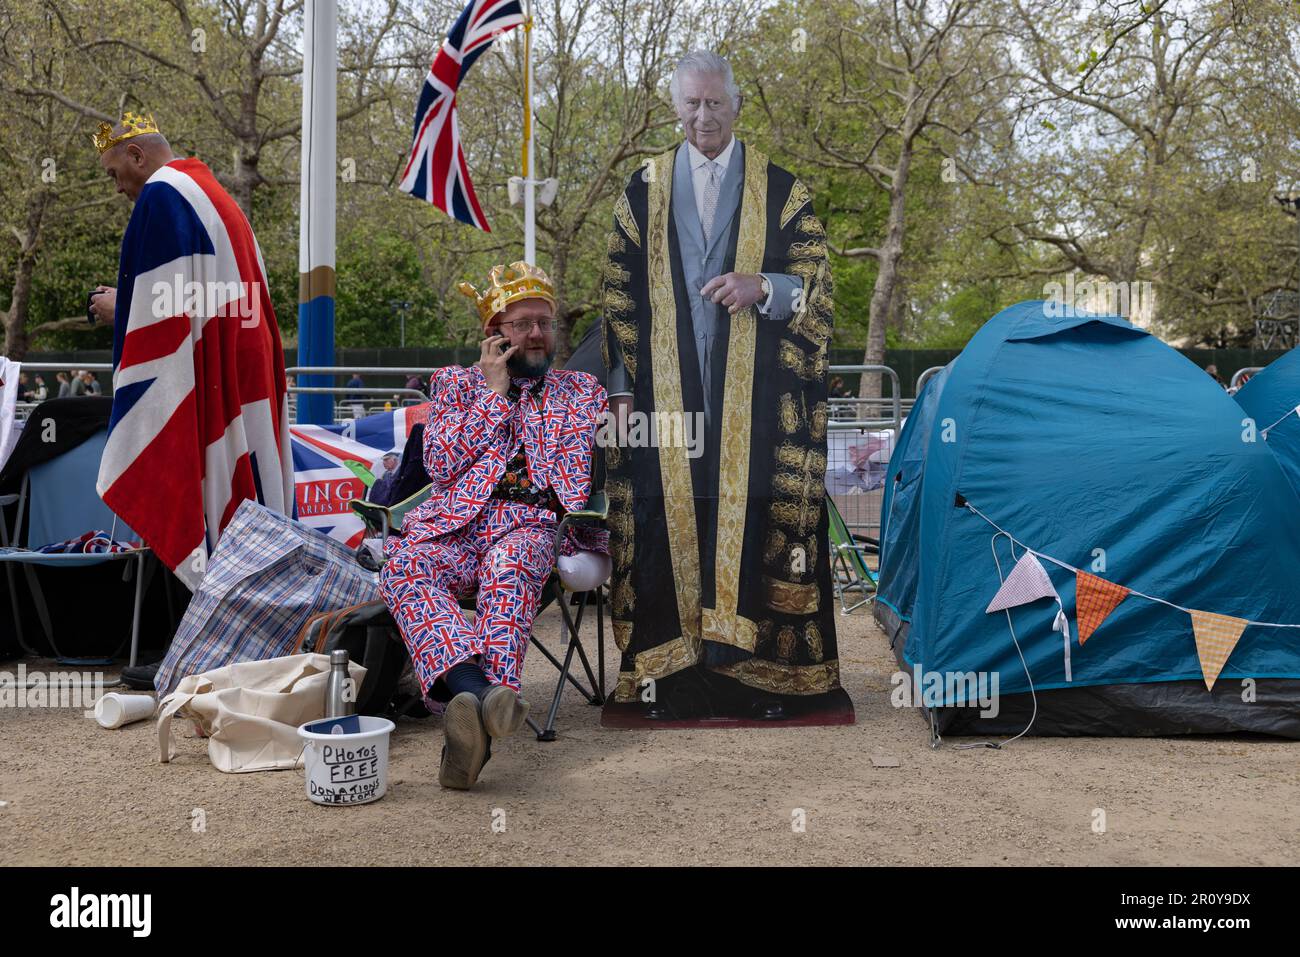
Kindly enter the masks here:
M 452 696 L 438 780 L 467 789 L 490 739 L 528 715 L 520 674 L 551 570 L 558 562 L 567 584 L 594 588 L 610 558 L 599 529 L 568 529 L 555 554 L 560 516 L 586 506 L 607 398 L 594 376 L 550 368 L 550 280 L 514 263 L 494 267 L 482 293 L 460 291 L 476 299 L 482 354 L 434 376 L 424 432 L 433 494 L 389 538 L 380 588 L 425 692 L 441 677 Z M 458 598 L 476 592 L 469 624 Z

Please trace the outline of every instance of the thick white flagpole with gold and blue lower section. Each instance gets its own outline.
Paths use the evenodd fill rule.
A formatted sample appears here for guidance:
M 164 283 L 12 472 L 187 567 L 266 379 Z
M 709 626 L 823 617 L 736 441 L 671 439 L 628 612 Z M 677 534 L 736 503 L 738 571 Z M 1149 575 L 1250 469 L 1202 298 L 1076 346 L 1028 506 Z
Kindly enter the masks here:
M 303 20 L 303 147 L 298 207 L 298 364 L 334 364 L 334 170 L 338 104 L 338 3 L 311 0 Z M 300 386 L 332 386 L 303 376 Z M 334 399 L 298 397 L 298 421 L 334 421 Z

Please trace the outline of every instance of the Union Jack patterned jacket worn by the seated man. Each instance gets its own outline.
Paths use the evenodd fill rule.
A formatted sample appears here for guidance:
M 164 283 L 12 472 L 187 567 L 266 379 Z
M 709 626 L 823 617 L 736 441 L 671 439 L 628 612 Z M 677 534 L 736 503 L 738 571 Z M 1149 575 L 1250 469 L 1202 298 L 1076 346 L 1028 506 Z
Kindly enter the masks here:
M 419 521 L 422 534 L 446 534 L 467 525 L 488 505 L 520 445 L 533 485 L 555 489 L 566 511 L 586 507 L 595 432 L 608 408 L 604 387 L 586 372 L 567 369 L 551 369 L 541 382 L 514 382 L 521 387 L 511 402 L 488 386 L 477 365 L 448 365 L 434 374 L 424 430 L 433 494 L 407 515 L 407 528 Z M 593 547 L 589 534 L 581 542 Z

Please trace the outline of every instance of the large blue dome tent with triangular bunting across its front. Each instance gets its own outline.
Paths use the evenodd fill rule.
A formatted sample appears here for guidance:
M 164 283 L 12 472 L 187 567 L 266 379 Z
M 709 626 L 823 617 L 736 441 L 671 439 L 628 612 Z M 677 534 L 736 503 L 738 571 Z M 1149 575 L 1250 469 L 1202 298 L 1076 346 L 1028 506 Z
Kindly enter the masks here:
M 913 689 L 937 731 L 1018 732 L 1032 688 L 1034 733 L 1300 737 L 1300 629 L 1247 627 L 1212 692 L 1182 610 L 1300 624 L 1300 497 L 1242 419 L 1147 332 L 1045 302 L 997 313 L 927 382 L 889 463 L 875 614 L 941 689 Z M 1019 650 L 985 614 L 1023 547 L 1179 607 L 1130 594 L 1080 646 L 1075 572 L 1040 559 L 1067 679 L 1054 601 L 1011 609 Z M 971 674 L 996 675 L 997 716 Z

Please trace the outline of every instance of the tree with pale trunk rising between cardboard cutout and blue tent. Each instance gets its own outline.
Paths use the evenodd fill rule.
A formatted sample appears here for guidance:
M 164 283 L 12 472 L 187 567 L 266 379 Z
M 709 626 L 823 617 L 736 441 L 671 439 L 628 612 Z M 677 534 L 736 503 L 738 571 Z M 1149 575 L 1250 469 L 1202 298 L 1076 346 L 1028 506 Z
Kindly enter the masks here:
M 976 9 L 985 21 L 975 18 Z M 814 56 L 802 101 L 793 116 L 768 108 L 783 142 L 805 164 L 840 177 L 861 174 L 888 200 L 883 226 L 863 222 L 855 235 L 828 244 L 838 256 L 876 263 L 864 364 L 883 363 L 885 332 L 898 308 L 915 164 L 935 153 L 953 179 L 974 178 L 965 155 L 976 152 L 983 127 L 1002 107 L 1010 68 L 1005 27 L 993 9 L 968 0 L 858 0 L 827 8 L 826 20 L 810 27 Z M 760 86 L 760 98 L 770 104 L 776 94 Z M 880 391 L 880 376 L 862 377 L 862 398 Z

